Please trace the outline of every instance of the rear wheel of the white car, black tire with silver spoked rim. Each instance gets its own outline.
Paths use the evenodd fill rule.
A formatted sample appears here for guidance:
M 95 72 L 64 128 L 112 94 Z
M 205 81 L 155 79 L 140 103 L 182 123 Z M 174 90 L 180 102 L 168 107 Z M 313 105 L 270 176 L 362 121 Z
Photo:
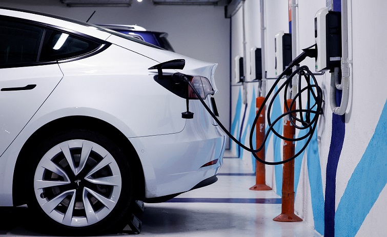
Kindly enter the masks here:
M 32 148 L 28 207 L 40 231 L 84 235 L 122 230 L 133 195 L 131 166 L 107 136 L 68 130 Z

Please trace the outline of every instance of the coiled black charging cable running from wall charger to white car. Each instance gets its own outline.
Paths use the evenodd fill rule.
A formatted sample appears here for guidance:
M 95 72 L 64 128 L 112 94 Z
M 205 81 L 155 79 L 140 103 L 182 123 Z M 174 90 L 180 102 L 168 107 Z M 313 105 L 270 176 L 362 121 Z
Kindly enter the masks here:
M 313 46 L 310 46 L 306 49 L 303 49 L 303 52 L 297 56 L 290 64 L 289 66 L 278 76 L 278 78 L 275 80 L 274 84 L 272 85 L 271 89 L 269 90 L 267 96 L 264 98 L 263 100 L 263 103 L 262 104 L 266 104 L 267 101 L 269 100 L 269 97 L 271 94 L 273 94 L 273 91 L 275 90 L 276 86 L 278 85 L 278 83 L 280 82 L 280 79 L 284 76 L 284 75 L 287 75 L 290 70 L 292 70 L 293 67 L 295 67 L 296 65 L 298 65 L 301 61 L 303 61 L 306 57 L 317 57 L 317 49 L 312 49 L 312 47 L 314 47 L 315 45 Z M 279 117 L 277 117 L 274 121 L 271 121 L 270 119 L 270 114 L 271 114 L 271 108 L 272 108 L 272 105 L 274 103 L 274 100 L 275 98 L 278 96 L 279 92 L 282 91 L 283 89 L 285 90 L 285 92 L 287 92 L 287 90 L 289 89 L 289 86 L 291 85 L 291 82 L 292 82 L 292 78 L 298 74 L 299 75 L 299 78 L 298 78 L 298 93 L 294 96 L 292 102 L 291 102 L 291 106 L 288 107 L 287 106 L 287 103 L 286 104 L 286 109 L 287 111 L 284 112 L 282 115 L 280 115 Z M 313 84 L 310 83 L 310 77 L 309 76 L 312 76 L 313 78 Z M 307 80 L 307 86 L 304 87 L 304 88 L 301 88 L 301 81 L 302 81 L 302 77 L 305 78 L 305 80 Z M 254 145 L 253 145 L 253 134 L 254 134 L 254 130 L 255 130 L 255 124 L 257 123 L 257 120 L 258 120 L 258 116 L 261 114 L 262 110 L 263 110 L 263 106 L 260 106 L 258 112 L 257 112 L 257 115 L 255 116 L 254 118 L 254 122 L 253 122 L 253 126 L 251 127 L 251 131 L 250 131 L 250 147 L 247 147 L 246 145 L 242 144 L 240 141 L 238 141 L 238 139 L 236 139 L 228 130 L 227 128 L 219 121 L 219 119 L 214 115 L 214 113 L 211 111 L 210 107 L 208 107 L 208 105 L 206 104 L 206 102 L 201 98 L 200 94 L 196 91 L 195 87 L 193 86 L 193 84 L 189 81 L 189 79 L 187 78 L 187 76 L 182 76 L 181 77 L 182 80 L 184 80 L 186 83 L 189 84 L 189 86 L 191 87 L 191 89 L 193 90 L 193 92 L 197 95 L 198 99 L 200 100 L 200 102 L 203 104 L 203 106 L 206 108 L 206 110 L 208 111 L 208 113 L 214 118 L 214 120 L 218 123 L 218 125 L 222 128 L 222 130 L 227 134 L 227 136 L 229 136 L 236 144 L 238 144 L 240 147 L 242 147 L 243 149 L 247 150 L 248 152 L 251 152 L 253 154 L 253 156 L 255 157 L 256 160 L 258 160 L 259 162 L 263 163 L 263 164 L 267 164 L 267 165 L 278 165 L 278 164 L 283 164 L 283 163 L 286 163 L 286 162 L 289 162 L 293 159 L 295 159 L 297 156 L 299 156 L 303 150 L 308 146 L 310 140 L 312 139 L 312 136 L 316 130 L 316 127 L 317 127 L 317 121 L 318 121 L 318 118 L 319 118 L 319 115 L 322 114 L 322 104 L 323 104 L 323 99 L 322 99 L 322 90 L 321 88 L 318 86 L 318 83 L 317 83 L 317 80 L 316 80 L 316 77 L 313 75 L 313 73 L 309 70 L 309 68 L 307 66 L 302 66 L 302 67 L 299 67 L 298 69 L 296 69 L 288 78 L 286 81 L 284 81 L 282 83 L 282 85 L 278 88 L 278 90 L 273 94 L 273 97 L 269 103 L 269 106 L 268 106 L 268 112 L 267 112 L 267 120 L 268 120 L 268 131 L 267 133 L 265 134 L 265 137 L 264 137 L 264 140 L 262 142 L 262 144 L 255 148 L 254 149 Z M 316 90 L 316 92 L 314 92 L 314 89 Z M 302 103 L 301 103 L 301 95 L 302 93 L 308 93 L 308 105 L 307 105 L 307 109 L 302 109 Z M 286 98 L 286 94 L 287 93 L 284 93 L 284 101 L 287 100 Z M 310 96 L 312 96 L 315 100 L 315 103 L 314 104 L 310 104 Z M 290 108 L 292 107 L 292 105 L 298 100 L 298 104 L 299 104 L 299 108 L 301 109 L 296 109 L 296 110 L 290 110 Z M 295 116 L 295 115 L 296 116 Z M 299 114 L 299 118 L 297 118 L 297 114 Z M 310 117 L 311 115 L 313 115 L 313 118 L 312 120 L 310 120 Z M 274 129 L 274 125 L 279 122 L 283 117 L 285 116 L 289 116 L 290 118 L 290 121 L 292 122 L 292 125 L 295 126 L 295 128 L 297 128 L 298 130 L 305 130 L 305 129 L 309 129 L 308 133 L 305 134 L 304 136 L 302 137 L 299 137 L 299 138 L 286 138 L 286 137 L 283 137 L 281 136 L 277 131 L 275 131 Z M 305 118 L 305 119 L 304 119 Z M 294 120 L 296 120 L 297 122 L 299 122 L 301 125 L 297 125 L 297 123 L 295 123 Z M 303 145 L 301 147 L 301 149 L 299 150 L 299 152 L 297 152 L 294 156 L 292 156 L 291 158 L 287 159 L 287 160 L 283 160 L 283 161 L 278 161 L 278 162 L 268 162 L 268 161 L 265 161 L 265 160 L 262 160 L 261 158 L 259 158 L 256 153 L 259 152 L 263 147 L 264 147 L 264 144 L 266 143 L 268 137 L 269 137 L 269 134 L 270 132 L 273 132 L 277 137 L 279 137 L 280 139 L 282 140 L 286 140 L 286 141 L 300 141 L 300 140 L 303 140 L 303 139 L 306 139 L 308 138 L 307 142 L 305 142 L 305 145 Z

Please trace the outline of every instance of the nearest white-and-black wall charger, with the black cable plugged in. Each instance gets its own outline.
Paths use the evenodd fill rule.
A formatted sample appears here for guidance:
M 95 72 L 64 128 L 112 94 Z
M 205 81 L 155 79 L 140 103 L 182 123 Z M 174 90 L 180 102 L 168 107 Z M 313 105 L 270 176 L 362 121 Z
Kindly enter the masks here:
M 316 72 L 341 66 L 341 14 L 321 8 L 314 18 Z

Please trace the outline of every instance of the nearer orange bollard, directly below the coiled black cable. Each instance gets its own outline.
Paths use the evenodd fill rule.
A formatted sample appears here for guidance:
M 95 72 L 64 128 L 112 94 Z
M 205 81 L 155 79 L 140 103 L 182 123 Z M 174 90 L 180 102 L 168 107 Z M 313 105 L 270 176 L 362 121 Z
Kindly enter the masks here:
M 292 102 L 291 99 L 287 101 L 288 107 Z M 291 110 L 295 110 L 294 103 Z M 284 109 L 286 111 L 286 107 Z M 283 136 L 286 138 L 294 138 L 295 127 L 290 123 L 289 116 L 283 117 Z M 284 141 L 283 144 L 283 160 L 294 156 L 295 145 L 294 142 Z M 281 214 L 273 219 L 273 221 L 280 222 L 299 222 L 301 218 L 294 214 L 294 160 L 283 164 L 282 167 L 282 206 Z

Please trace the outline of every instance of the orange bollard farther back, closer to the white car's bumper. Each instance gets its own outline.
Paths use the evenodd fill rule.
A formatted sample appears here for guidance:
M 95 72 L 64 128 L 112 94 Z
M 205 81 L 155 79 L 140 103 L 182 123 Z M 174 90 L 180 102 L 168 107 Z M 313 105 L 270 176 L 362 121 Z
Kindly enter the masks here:
M 256 107 L 257 107 L 257 113 L 260 108 L 260 106 L 263 104 L 264 97 L 257 97 L 256 99 Z M 256 138 L 256 147 L 259 147 L 264 139 L 264 133 L 265 133 L 265 105 L 263 104 L 263 109 L 261 114 L 258 116 L 257 124 L 255 126 L 255 138 Z M 264 160 L 264 146 L 263 148 L 256 153 L 257 156 Z M 255 181 L 256 184 L 250 188 L 250 190 L 272 190 L 271 187 L 266 185 L 266 169 L 263 163 L 259 161 L 255 161 Z

